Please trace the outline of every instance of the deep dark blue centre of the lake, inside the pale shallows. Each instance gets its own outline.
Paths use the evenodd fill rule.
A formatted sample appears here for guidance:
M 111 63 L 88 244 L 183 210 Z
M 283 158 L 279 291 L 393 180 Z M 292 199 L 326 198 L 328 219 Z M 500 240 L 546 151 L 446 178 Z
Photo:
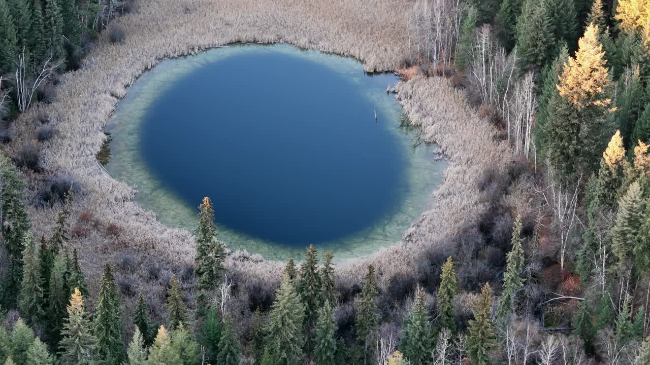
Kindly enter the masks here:
M 211 197 L 230 229 L 299 247 L 342 238 L 391 214 L 408 184 L 403 146 L 362 89 L 304 58 L 228 57 L 149 107 L 140 153 L 185 201 Z

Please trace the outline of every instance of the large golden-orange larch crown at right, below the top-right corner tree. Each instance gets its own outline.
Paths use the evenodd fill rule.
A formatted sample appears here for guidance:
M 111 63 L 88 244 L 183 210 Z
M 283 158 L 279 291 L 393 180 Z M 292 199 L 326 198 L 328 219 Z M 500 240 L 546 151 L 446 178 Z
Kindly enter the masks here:
M 589 105 L 608 107 L 611 103 L 605 93 L 611 81 L 604 55 L 603 45 L 598 40 L 598 26 L 590 24 L 578 40 L 575 57 L 569 57 L 564 64 L 557 85 L 560 96 L 578 110 Z

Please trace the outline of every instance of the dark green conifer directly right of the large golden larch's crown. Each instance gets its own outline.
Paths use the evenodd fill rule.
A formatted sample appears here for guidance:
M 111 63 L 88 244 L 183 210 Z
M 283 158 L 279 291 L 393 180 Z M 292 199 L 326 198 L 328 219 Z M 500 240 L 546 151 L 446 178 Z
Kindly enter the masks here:
M 638 66 L 625 69 L 618 83 L 620 91 L 616 98 L 614 123 L 621 131 L 623 144 L 629 148 L 634 144 L 632 140 L 634 123 L 640 118 L 646 101 L 639 70 Z

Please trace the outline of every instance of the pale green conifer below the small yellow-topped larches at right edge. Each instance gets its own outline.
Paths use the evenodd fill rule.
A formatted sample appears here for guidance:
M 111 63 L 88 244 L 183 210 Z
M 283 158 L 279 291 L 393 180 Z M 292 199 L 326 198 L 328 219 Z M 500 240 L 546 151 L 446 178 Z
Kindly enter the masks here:
M 642 225 L 643 208 L 641 186 L 635 181 L 619 200 L 616 222 L 611 231 L 612 251 L 618 259 L 619 267 L 632 263 L 632 252 L 640 242 L 638 234 Z

